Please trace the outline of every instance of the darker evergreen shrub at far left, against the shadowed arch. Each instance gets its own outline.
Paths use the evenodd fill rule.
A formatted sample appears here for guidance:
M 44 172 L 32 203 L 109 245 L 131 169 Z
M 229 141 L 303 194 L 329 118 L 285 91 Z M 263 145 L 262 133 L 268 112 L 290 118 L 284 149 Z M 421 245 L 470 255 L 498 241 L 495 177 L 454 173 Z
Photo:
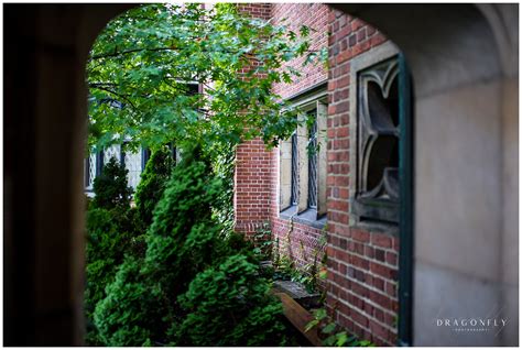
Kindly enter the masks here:
M 112 158 L 95 179 L 96 197 L 87 210 L 85 311 L 87 343 L 101 344 L 94 325 L 94 311 L 106 297 L 105 286 L 113 281 L 126 254 L 143 253 L 135 209 L 129 206 L 127 171 Z

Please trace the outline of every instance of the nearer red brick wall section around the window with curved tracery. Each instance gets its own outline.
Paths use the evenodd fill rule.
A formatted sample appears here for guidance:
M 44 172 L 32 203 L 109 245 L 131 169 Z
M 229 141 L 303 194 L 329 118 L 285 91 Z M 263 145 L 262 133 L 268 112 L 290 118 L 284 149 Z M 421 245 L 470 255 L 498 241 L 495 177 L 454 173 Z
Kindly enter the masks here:
M 337 322 L 377 344 L 395 344 L 399 240 L 349 226 L 350 58 L 387 39 L 358 19 L 329 14 L 327 306 Z

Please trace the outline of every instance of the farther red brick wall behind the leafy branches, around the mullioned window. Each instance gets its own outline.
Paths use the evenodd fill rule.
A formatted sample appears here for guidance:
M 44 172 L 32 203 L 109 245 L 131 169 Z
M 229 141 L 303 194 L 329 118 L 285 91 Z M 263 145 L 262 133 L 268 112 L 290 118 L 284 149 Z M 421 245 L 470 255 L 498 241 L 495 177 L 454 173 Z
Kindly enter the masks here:
M 249 15 L 272 19 L 274 24 L 283 24 L 282 19 L 286 18 L 285 25 L 295 32 L 298 32 L 302 24 L 308 25 L 316 30 L 311 34 L 311 50 L 315 51 L 327 46 L 329 11 L 327 6 L 318 3 L 241 3 L 239 9 Z M 303 61 L 304 58 L 300 58 L 290 63 L 302 72 L 302 76 L 296 78 L 293 84 L 275 85 L 275 94 L 287 98 L 320 81 L 326 81 L 328 74 L 323 65 L 303 67 Z M 281 244 L 284 244 L 287 241 L 287 220 L 279 219 L 278 152 L 275 150 L 265 151 L 262 142 L 255 140 L 241 144 L 236 155 L 238 164 L 235 177 L 236 230 L 253 233 L 264 222 L 271 222 L 273 232 L 280 238 Z M 269 174 L 265 175 L 260 169 L 269 169 Z M 300 252 L 300 254 L 294 254 L 294 258 L 301 264 L 304 261 L 301 254 L 302 243 L 306 254 L 312 254 L 318 244 L 317 239 L 320 237 L 320 230 L 312 227 L 297 229 L 297 227 L 300 226 L 295 226 L 295 230 L 291 232 L 290 237 L 292 251 Z M 303 234 L 303 232 L 309 234 Z

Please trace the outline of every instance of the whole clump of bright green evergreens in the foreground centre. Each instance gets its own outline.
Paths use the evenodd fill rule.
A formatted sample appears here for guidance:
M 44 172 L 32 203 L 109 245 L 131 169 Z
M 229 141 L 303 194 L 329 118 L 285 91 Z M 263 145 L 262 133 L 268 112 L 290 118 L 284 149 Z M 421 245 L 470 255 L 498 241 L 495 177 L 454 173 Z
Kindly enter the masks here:
M 259 262 L 246 253 L 249 244 L 238 234 L 224 234 L 213 217 L 221 188 L 202 152 L 185 151 L 154 210 L 144 258 L 126 260 L 96 307 L 104 344 L 216 344 L 216 337 L 233 344 L 264 344 L 285 339 L 278 321 L 281 305 L 267 296 Z M 198 325 L 197 330 L 191 325 Z

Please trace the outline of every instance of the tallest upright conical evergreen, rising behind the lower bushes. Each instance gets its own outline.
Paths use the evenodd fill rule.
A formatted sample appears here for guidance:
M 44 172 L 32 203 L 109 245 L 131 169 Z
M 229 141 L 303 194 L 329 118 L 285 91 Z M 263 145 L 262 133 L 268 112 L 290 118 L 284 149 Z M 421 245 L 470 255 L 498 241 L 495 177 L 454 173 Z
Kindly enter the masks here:
M 196 152 L 185 152 L 174 168 L 146 238 L 146 266 L 174 298 L 225 249 L 221 227 L 211 220 L 221 182 Z

